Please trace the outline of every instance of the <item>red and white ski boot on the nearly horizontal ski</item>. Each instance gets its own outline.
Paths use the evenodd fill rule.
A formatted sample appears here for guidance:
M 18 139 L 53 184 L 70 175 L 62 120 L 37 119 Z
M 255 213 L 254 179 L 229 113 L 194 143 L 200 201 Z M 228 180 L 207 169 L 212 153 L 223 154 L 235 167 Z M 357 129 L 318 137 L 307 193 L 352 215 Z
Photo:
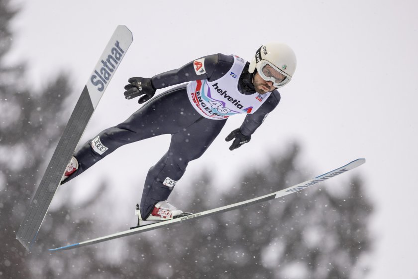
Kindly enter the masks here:
M 138 226 L 132 227 L 131 229 L 151 225 L 156 222 L 176 219 L 191 214 L 192 213 L 190 212 L 183 213 L 183 211 L 177 209 L 173 205 L 169 204 L 167 201 L 160 201 L 154 206 L 148 218 L 146 220 L 142 220 L 141 211 L 139 210 L 139 204 L 136 204 L 135 215 L 138 216 Z

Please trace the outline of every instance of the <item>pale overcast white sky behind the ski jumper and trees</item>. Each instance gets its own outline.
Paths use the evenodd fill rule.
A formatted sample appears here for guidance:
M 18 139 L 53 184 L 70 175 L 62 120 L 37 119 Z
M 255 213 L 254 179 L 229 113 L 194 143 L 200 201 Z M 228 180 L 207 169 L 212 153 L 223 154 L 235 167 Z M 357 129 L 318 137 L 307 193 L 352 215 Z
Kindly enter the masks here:
M 84 140 L 138 108 L 136 101 L 122 95 L 131 76 L 150 77 L 217 52 L 249 60 L 267 41 L 291 45 L 298 58 L 296 74 L 280 90 L 281 104 L 252 141 L 233 152 L 227 150 L 223 139 L 243 119 L 231 118 L 209 152 L 190 164 L 183 180 L 209 168 L 208 161 L 221 154 L 233 163 L 210 168 L 218 173 L 217 181 L 226 176 L 231 182 L 237 166 L 262 164 L 271 149 L 283 150 L 293 140 L 303 144 L 301 163 L 310 167 L 310 176 L 364 157 L 366 164 L 352 174 L 365 177 L 367 195 L 376 205 L 371 223 L 375 252 L 368 279 L 418 278 L 417 1 L 15 3 L 22 12 L 14 20 L 16 36 L 8 61 L 28 61 L 27 82 L 36 88 L 66 70 L 81 92 L 116 25 L 125 24 L 132 31 L 133 44 Z M 165 153 L 168 141 L 169 136 L 163 136 L 124 146 L 112 159 L 83 174 L 83 181 L 92 181 L 112 167 L 115 171 L 108 179 L 118 185 L 114 203 L 129 204 L 121 215 L 131 218 L 130 205 L 139 201 L 144 176 Z M 122 172 L 122 162 L 137 165 L 137 172 Z M 133 184 L 135 178 L 138 182 Z M 348 176 L 335 179 L 344 181 Z M 86 188 L 74 183 L 75 202 L 86 195 Z M 135 198 L 126 202 L 126 194 Z

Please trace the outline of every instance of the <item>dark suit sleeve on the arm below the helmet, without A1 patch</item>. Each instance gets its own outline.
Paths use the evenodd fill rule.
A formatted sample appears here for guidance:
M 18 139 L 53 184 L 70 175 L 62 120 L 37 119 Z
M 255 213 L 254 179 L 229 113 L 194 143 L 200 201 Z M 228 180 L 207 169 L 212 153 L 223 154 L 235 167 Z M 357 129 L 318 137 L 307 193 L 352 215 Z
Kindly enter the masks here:
M 245 136 L 252 135 L 255 130 L 263 123 L 267 115 L 272 112 L 280 102 L 280 93 L 274 90 L 266 102 L 253 114 L 248 114 L 240 129 Z

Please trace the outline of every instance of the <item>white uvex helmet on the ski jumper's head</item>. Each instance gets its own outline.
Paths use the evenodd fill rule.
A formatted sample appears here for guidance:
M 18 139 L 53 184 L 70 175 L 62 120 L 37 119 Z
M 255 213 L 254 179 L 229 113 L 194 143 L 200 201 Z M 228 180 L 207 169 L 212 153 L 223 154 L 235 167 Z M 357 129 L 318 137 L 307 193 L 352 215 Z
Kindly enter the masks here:
M 271 73 L 272 70 L 265 70 L 266 65 L 270 65 L 280 74 Z M 277 88 L 284 86 L 291 79 L 296 70 L 295 52 L 284 43 L 267 43 L 262 45 L 255 53 L 250 62 L 248 72 L 253 73 L 257 68 L 258 74 L 267 81 L 272 81 Z M 285 76 L 285 78 L 282 77 Z M 278 76 L 281 78 L 278 80 Z

